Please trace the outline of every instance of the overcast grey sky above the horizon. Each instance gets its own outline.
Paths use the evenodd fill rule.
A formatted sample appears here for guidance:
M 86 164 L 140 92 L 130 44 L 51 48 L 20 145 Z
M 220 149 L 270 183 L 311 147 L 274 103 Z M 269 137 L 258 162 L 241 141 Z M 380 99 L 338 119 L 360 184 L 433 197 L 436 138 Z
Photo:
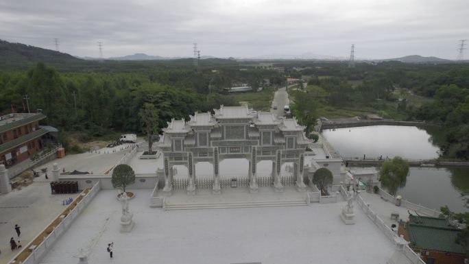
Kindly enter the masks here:
M 74 56 L 314 53 L 455 59 L 469 0 L 0 0 L 0 38 Z M 468 55 L 465 58 L 469 58 Z

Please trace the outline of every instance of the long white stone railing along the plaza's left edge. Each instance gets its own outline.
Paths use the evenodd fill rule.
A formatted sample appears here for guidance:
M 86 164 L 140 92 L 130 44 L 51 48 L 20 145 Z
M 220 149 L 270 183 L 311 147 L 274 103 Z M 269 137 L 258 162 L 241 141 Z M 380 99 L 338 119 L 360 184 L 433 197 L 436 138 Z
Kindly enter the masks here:
M 60 217 L 62 217 L 63 212 L 60 213 L 60 215 L 58 215 L 55 219 L 53 219 L 53 221 L 51 221 L 51 223 L 48 224 L 46 228 L 41 230 L 39 232 L 39 235 L 35 237 L 34 239 L 32 239 L 32 241 L 36 240 L 36 238 L 38 238 L 40 235 L 44 233 L 47 234 L 46 230 L 49 229 L 51 226 L 53 227 L 53 230 L 51 230 L 49 235 L 43 237 L 43 241 L 39 243 L 39 245 L 36 245 L 36 247 L 32 250 L 31 254 L 29 254 L 29 256 L 27 256 L 27 258 L 24 261 L 19 262 L 19 263 L 28 263 L 28 264 L 40 263 L 41 259 L 43 259 L 45 254 L 47 254 L 47 252 L 52 248 L 53 244 L 61 237 L 61 235 L 67 230 L 67 228 L 69 228 L 71 223 L 78 217 L 78 215 L 80 215 L 80 212 L 83 211 L 84 208 L 86 208 L 86 206 L 91 202 L 91 200 L 93 200 L 93 197 L 96 196 L 96 194 L 99 192 L 100 189 L 101 188 L 99 187 L 99 181 L 98 181 L 96 182 L 95 185 L 93 185 L 93 187 L 91 188 L 90 191 L 88 191 L 88 193 L 86 194 L 82 193 L 83 195 L 82 200 L 80 200 L 80 202 L 77 202 L 75 207 L 73 207 L 73 209 L 71 209 L 71 211 L 69 211 L 69 213 L 65 217 L 63 217 L 62 221 L 60 221 L 60 223 L 55 227 L 53 227 L 53 223 L 57 219 L 60 219 Z M 32 246 L 32 243 L 29 243 L 27 247 L 25 247 L 24 250 L 29 250 L 31 246 Z M 18 263 L 14 259 L 16 259 L 16 257 L 18 257 L 21 253 L 23 253 L 23 251 L 16 254 L 16 256 L 14 256 L 14 258 L 9 263 L 15 263 L 15 264 Z

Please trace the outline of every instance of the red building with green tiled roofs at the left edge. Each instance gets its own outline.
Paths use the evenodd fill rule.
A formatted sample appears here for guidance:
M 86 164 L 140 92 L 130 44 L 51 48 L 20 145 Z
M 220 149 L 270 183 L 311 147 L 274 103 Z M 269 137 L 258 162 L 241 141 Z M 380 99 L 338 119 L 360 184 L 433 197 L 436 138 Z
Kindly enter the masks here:
M 41 113 L 13 113 L 0 117 L 0 164 L 7 169 L 43 149 L 42 137 L 49 131 L 40 128 Z

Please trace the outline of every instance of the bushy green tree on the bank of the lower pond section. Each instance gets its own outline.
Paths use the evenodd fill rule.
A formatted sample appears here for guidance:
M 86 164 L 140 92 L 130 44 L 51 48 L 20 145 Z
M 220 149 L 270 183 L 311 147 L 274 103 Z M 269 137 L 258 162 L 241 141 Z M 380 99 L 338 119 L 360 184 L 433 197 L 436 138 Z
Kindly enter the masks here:
M 409 175 L 409 163 L 396 156 L 392 160 L 386 160 L 379 171 L 381 187 L 384 187 L 391 195 L 396 195 L 399 188 L 405 187 Z

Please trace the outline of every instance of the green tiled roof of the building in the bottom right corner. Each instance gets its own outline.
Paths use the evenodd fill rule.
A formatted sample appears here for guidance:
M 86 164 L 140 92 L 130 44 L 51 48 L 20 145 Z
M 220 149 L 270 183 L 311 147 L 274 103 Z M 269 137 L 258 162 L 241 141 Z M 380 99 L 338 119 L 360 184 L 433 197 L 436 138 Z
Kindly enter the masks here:
M 466 254 L 466 248 L 455 241 L 461 229 L 451 226 L 448 219 L 409 215 L 405 229 L 411 248 Z

